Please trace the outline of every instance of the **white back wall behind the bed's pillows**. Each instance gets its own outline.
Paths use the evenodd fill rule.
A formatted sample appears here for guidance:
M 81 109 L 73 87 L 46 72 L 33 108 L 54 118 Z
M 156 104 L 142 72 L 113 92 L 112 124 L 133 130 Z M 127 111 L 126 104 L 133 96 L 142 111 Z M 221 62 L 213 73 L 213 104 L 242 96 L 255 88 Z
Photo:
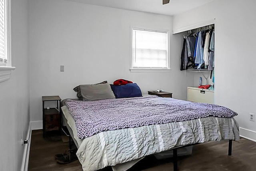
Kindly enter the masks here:
M 181 35 L 171 36 L 171 72 L 130 72 L 130 25 L 170 29 L 172 17 L 61 0 L 29 1 L 30 113 L 42 120 L 42 96 L 75 98 L 73 88 L 123 78 L 142 93 L 162 88 L 186 99 L 193 78 L 180 72 Z M 65 71 L 60 72 L 60 65 Z M 182 87 L 182 88 L 181 88 Z

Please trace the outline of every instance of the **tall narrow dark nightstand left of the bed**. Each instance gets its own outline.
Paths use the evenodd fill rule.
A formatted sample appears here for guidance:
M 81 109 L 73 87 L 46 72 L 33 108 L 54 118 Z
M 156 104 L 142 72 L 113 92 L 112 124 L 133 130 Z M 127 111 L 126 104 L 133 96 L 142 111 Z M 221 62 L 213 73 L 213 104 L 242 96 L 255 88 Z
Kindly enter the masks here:
M 44 106 L 45 101 L 56 101 L 56 107 L 47 109 Z M 58 131 L 60 133 L 61 117 L 60 117 L 60 97 L 42 96 L 43 102 L 43 137 L 46 132 Z

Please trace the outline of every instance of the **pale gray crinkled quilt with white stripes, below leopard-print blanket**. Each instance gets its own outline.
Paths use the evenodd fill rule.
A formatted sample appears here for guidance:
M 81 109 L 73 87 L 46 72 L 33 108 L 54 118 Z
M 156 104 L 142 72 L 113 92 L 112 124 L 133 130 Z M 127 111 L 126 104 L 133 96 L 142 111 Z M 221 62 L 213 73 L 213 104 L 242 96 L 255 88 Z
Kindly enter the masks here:
M 239 126 L 233 117 L 212 116 L 103 131 L 82 140 L 78 138 L 76 123 L 66 105 L 62 106 L 62 111 L 78 143 L 76 155 L 84 171 L 96 171 L 106 166 L 118 168 L 118 164 L 128 163 L 120 169 L 126 170 L 147 155 L 176 147 L 222 139 L 239 140 Z

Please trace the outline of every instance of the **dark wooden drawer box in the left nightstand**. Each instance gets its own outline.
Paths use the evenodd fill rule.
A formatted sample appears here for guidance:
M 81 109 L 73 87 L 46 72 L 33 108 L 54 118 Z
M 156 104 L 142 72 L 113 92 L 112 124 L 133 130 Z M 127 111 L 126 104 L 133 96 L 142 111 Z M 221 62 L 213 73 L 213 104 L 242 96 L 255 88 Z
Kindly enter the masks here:
M 45 131 L 54 131 L 60 129 L 59 114 L 45 115 Z

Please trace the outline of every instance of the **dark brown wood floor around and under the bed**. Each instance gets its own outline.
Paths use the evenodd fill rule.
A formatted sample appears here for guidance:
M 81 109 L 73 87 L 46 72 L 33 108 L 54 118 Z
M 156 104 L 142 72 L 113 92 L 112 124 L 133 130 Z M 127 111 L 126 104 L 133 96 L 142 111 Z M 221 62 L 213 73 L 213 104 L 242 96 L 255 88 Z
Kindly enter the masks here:
M 68 150 L 68 137 L 43 138 L 42 130 L 32 131 L 29 171 L 82 171 L 78 160 L 61 165 L 54 155 Z M 255 171 L 256 142 L 248 139 L 233 141 L 232 156 L 228 156 L 228 141 L 193 146 L 192 155 L 178 157 L 180 171 Z M 138 162 L 129 171 L 172 171 L 172 158 L 158 160 L 153 155 Z M 106 167 L 101 171 L 112 171 Z

